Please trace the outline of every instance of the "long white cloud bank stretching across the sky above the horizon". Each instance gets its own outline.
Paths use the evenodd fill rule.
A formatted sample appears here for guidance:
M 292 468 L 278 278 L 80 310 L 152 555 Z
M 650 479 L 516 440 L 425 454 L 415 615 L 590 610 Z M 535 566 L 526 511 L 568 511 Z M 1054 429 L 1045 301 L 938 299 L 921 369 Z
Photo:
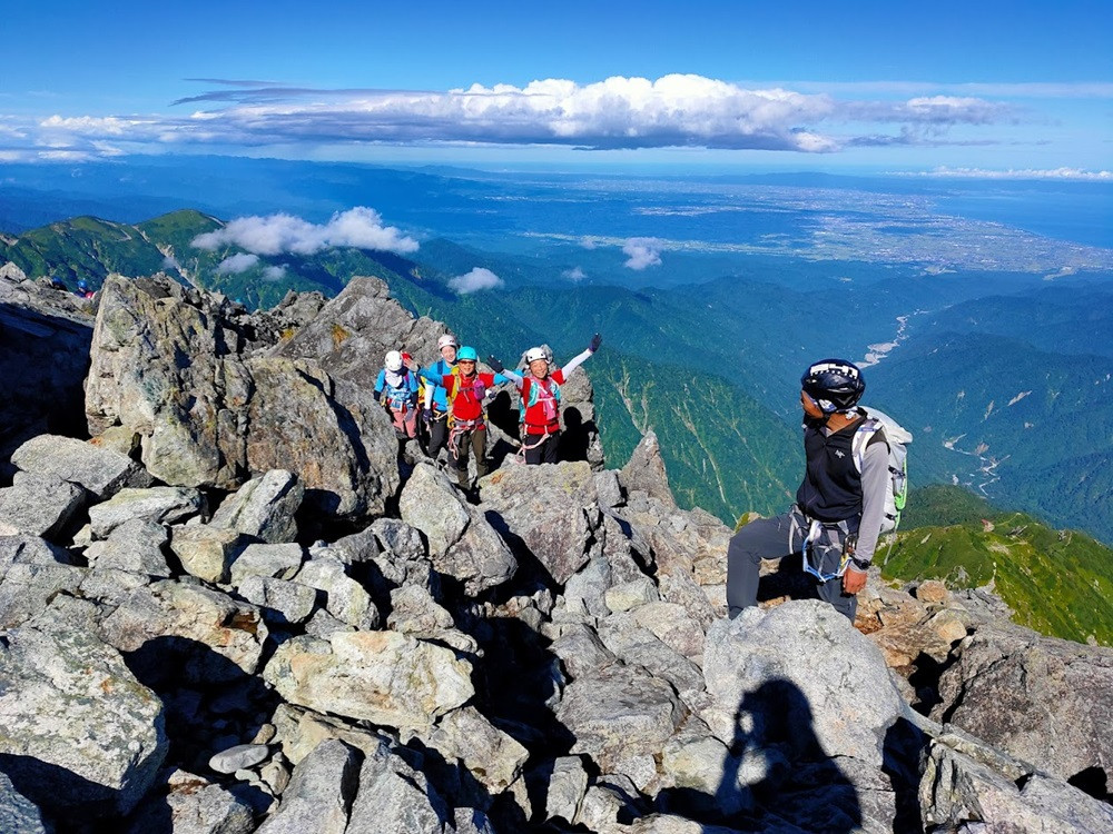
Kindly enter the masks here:
M 1011 103 L 927 95 L 923 86 L 906 98 L 838 98 L 828 91 L 743 87 L 696 75 L 612 77 L 583 85 L 544 79 L 524 87 L 472 85 L 433 92 L 206 82 L 220 89 L 175 103 L 208 109 L 176 117 L 55 115 L 19 122 L 0 116 L 0 136 L 7 140 L 0 152 L 22 148 L 40 156 L 110 156 L 150 146 L 481 142 L 812 153 L 868 141 L 907 143 L 925 135 L 938 142 L 956 126 L 1018 118 Z M 855 125 L 869 128 L 848 129 Z

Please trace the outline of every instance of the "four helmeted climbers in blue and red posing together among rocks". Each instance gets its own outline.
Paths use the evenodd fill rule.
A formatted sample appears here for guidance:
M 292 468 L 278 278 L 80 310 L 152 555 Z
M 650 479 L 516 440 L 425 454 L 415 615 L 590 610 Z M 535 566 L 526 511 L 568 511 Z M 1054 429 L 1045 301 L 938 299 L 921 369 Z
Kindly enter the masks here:
M 522 374 L 508 370 L 495 357 L 487 357 L 491 373 L 479 370 L 475 348 L 463 346 L 451 334 L 437 339 L 441 355 L 429 368 L 408 354 L 391 350 L 375 381 L 375 399 L 386 406 L 400 440 L 417 436 L 417 414 L 429 430 L 427 454 L 434 460 L 447 448 L 456 481 L 469 485 L 467 465 L 475 457 L 479 477 L 487 473 L 486 413 L 484 400 L 495 386 L 511 383 L 522 396 L 521 455 L 526 464 L 559 460 L 561 385 L 588 357 L 599 349 L 595 334 L 588 349 L 564 367 L 552 370 L 543 348 L 530 348 Z M 424 389 L 424 393 L 422 391 Z

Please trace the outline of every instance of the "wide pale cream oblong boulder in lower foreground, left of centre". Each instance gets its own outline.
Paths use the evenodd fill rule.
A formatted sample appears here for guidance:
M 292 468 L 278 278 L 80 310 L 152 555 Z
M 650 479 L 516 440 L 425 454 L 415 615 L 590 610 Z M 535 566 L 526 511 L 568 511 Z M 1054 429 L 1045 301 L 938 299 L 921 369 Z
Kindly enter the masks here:
M 334 632 L 284 643 L 264 677 L 292 704 L 400 729 L 427 729 L 475 694 L 471 664 L 397 632 Z

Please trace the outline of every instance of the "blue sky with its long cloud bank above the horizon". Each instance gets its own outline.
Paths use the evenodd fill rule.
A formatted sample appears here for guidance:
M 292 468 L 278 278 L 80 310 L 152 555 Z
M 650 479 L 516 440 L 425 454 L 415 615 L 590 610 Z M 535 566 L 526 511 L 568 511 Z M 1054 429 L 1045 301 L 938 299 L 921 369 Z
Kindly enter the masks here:
M 0 161 L 1113 169 L 1107 1 L 9 0 L 4 18 Z

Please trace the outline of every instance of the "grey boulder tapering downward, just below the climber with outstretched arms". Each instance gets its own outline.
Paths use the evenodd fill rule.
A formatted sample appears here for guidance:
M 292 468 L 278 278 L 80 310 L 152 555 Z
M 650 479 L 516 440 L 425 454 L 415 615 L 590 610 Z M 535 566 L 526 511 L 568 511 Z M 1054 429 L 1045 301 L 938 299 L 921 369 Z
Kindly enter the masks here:
M 532 554 L 556 584 L 588 563 L 602 516 L 587 463 L 508 466 L 483 478 L 480 489 L 495 529 Z

